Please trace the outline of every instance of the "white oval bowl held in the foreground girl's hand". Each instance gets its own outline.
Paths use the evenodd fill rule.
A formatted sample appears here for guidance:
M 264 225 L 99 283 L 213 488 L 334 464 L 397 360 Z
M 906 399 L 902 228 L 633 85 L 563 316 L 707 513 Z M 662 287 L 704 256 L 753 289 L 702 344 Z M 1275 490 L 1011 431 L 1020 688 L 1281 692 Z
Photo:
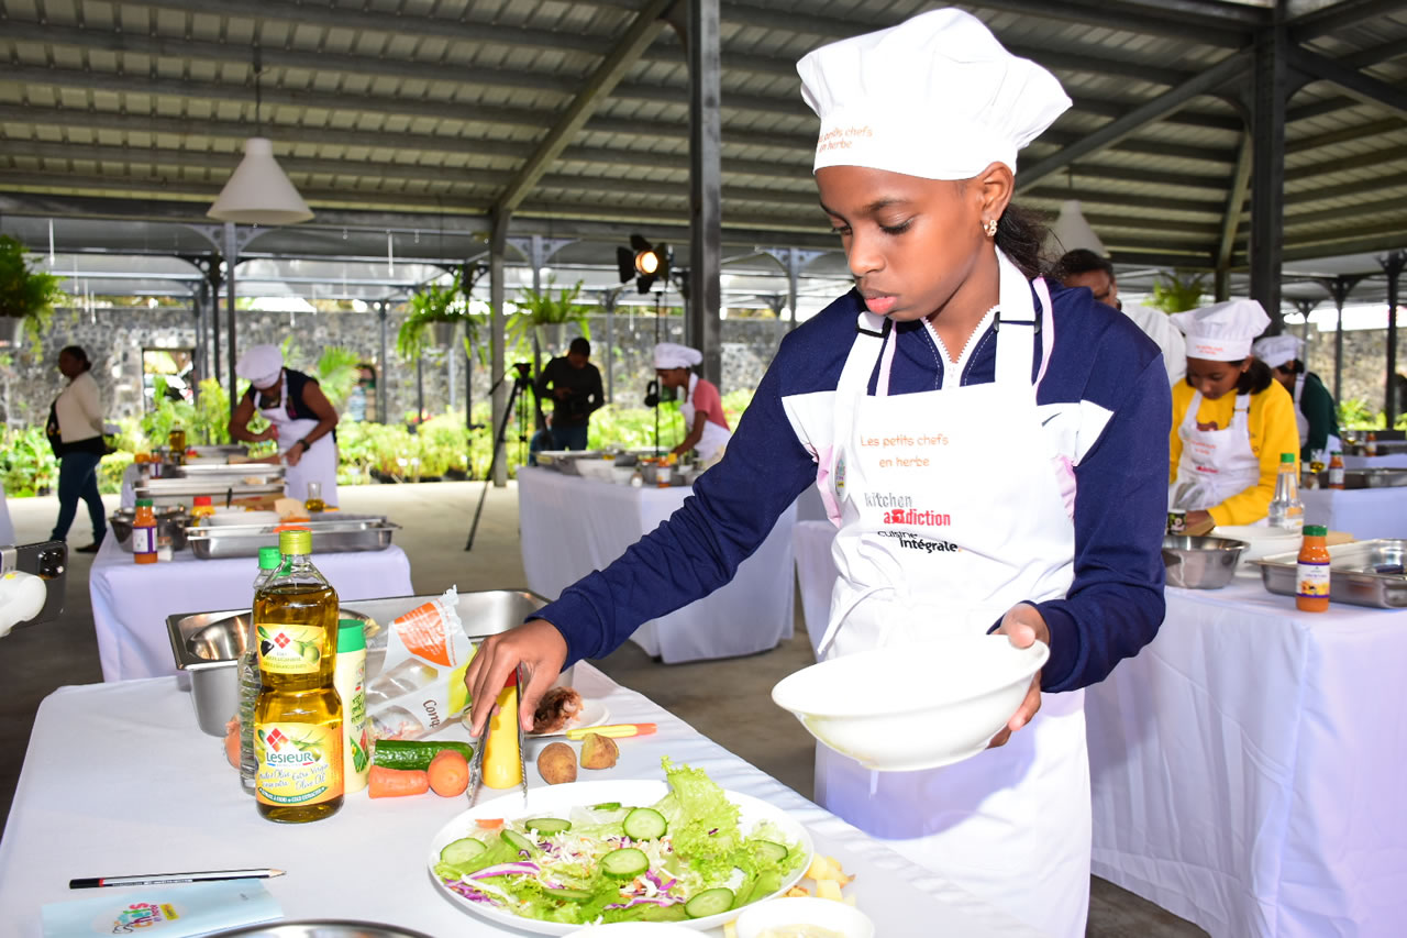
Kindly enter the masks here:
M 1050 648 L 1005 635 L 893 645 L 803 668 L 772 687 L 813 737 L 882 772 L 982 752 L 1026 697 Z

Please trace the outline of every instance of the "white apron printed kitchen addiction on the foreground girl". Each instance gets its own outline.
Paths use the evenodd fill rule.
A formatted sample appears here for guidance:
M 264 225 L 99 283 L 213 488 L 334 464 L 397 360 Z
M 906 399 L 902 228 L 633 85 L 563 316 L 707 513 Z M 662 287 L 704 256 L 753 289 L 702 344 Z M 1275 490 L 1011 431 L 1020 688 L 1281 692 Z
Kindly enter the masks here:
M 948 363 L 941 392 L 888 396 L 893 335 L 882 335 L 881 317 L 861 314 L 836 392 L 836 449 L 817 472 L 840 514 L 833 548 L 840 579 L 823 658 L 983 634 L 1023 600 L 1065 596 L 1074 579 L 1075 527 L 1031 383 L 1031 286 L 998 256 L 1002 314 L 992 384 L 954 387 L 960 376 Z M 1044 282 L 1037 290 L 1045 330 L 1038 384 L 1054 323 Z M 877 358 L 879 383 L 870 397 Z M 885 446 L 900 435 L 930 442 Z M 915 458 L 929 465 L 899 465 Z M 941 769 L 871 772 L 817 745 L 816 799 L 1038 931 L 1085 934 L 1083 692 L 1047 694 L 1005 746 Z

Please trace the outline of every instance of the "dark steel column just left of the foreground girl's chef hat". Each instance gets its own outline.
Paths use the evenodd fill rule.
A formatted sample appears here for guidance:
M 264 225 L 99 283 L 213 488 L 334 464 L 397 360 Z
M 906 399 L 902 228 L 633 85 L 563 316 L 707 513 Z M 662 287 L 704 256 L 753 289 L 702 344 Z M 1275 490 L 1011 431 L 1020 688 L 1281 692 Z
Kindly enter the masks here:
M 689 0 L 689 335 L 704 352 L 704 377 L 722 384 L 723 125 L 719 0 Z

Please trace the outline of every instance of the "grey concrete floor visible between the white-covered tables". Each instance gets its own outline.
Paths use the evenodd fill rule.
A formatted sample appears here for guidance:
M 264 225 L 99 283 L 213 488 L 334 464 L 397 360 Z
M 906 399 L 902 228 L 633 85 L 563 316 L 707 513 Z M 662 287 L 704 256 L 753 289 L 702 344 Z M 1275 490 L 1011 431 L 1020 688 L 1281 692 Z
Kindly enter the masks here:
M 526 586 L 518 544 L 516 489 L 490 490 L 474 549 L 464 541 L 483 487 L 478 483 L 367 486 L 340 490 L 345 511 L 387 514 L 402 525 L 395 542 L 409 555 L 418 593 Z M 110 508 L 117 497 L 107 499 Z M 21 544 L 48 537 L 58 513 L 51 499 L 11 499 L 10 515 Z M 90 539 L 80 517 L 73 546 Z M 23 753 L 39 701 L 62 684 L 96 683 L 87 573 L 91 558 L 72 554 L 65 613 L 59 621 L 25 627 L 0 639 L 0 823 L 8 814 Z M 678 714 L 704 735 L 723 741 L 743 759 L 803 796 L 812 793 L 810 735 L 771 704 L 782 676 L 812 663 L 810 644 L 796 603 L 796 634 L 781 646 L 749 658 L 661 665 L 633 642 L 595 662 L 619 683 Z M 1112 883 L 1095 879 L 1088 935 L 1100 938 L 1192 938 L 1200 928 Z

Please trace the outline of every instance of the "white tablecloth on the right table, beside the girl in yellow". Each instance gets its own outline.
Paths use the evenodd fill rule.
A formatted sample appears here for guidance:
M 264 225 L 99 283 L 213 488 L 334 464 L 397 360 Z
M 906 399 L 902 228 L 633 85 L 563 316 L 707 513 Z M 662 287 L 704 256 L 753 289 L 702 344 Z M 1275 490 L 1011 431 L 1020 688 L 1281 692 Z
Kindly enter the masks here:
M 1168 589 L 1085 694 L 1096 875 L 1214 938 L 1407 930 L 1407 611 Z

